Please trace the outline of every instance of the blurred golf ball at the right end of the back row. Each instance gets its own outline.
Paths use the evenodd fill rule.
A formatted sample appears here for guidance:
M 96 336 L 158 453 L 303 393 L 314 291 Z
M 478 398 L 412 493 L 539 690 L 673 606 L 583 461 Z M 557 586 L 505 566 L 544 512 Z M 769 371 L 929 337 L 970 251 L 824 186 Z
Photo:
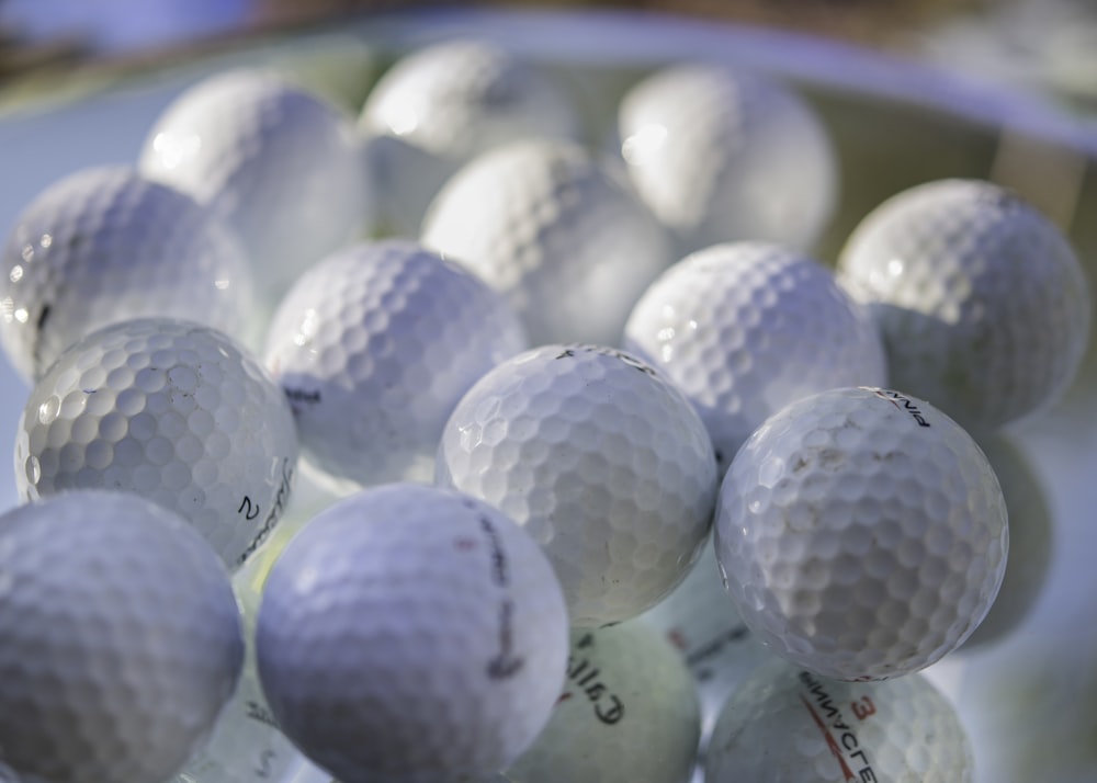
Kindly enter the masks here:
M 681 65 L 632 88 L 618 120 L 636 191 L 681 252 L 743 239 L 808 248 L 837 205 L 826 128 L 755 73 Z

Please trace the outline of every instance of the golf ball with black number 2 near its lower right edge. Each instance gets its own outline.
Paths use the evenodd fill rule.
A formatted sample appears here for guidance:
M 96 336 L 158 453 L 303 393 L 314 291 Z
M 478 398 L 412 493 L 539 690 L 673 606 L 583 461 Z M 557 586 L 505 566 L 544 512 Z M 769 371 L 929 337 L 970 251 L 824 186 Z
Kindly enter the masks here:
M 69 348 L 31 392 L 15 440 L 24 500 L 134 492 L 189 520 L 229 567 L 278 523 L 297 463 L 282 390 L 233 340 L 170 318 Z

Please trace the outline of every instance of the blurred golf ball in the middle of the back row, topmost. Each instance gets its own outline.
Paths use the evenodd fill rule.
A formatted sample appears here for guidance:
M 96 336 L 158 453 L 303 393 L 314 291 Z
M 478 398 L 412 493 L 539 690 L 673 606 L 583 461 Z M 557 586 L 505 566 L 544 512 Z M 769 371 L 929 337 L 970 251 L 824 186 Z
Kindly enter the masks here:
M 384 223 L 409 237 L 439 189 L 480 152 L 523 138 L 578 139 L 579 125 L 568 97 L 536 67 L 465 39 L 399 59 L 359 117 Z

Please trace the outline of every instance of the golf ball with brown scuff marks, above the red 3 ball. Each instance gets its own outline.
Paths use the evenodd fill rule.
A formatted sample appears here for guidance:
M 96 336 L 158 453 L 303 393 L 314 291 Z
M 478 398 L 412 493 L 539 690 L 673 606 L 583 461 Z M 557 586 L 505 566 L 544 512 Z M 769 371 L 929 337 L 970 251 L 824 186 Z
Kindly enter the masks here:
M 962 644 L 1002 583 L 1008 534 L 971 436 L 921 400 L 869 388 L 768 419 L 732 462 L 715 522 L 743 620 L 840 680 L 905 674 Z

